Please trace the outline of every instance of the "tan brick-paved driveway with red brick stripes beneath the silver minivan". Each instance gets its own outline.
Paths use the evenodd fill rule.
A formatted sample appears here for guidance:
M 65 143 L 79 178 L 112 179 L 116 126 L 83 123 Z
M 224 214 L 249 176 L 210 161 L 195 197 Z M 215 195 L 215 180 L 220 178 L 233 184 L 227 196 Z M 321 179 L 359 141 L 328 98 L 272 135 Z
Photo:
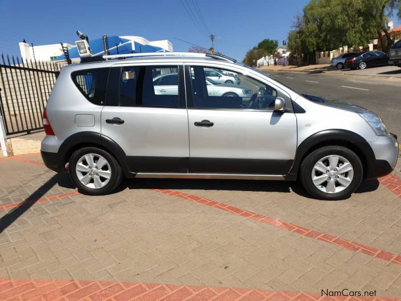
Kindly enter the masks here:
M 399 297 L 400 197 L 394 175 L 336 202 L 219 180 L 137 179 L 91 197 L 38 154 L 2 158 L 0 299 Z

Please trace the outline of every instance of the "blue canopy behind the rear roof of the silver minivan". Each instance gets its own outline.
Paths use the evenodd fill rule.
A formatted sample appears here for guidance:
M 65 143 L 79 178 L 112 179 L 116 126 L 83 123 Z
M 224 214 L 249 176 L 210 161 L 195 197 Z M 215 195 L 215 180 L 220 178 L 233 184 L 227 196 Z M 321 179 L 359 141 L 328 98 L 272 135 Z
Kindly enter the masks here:
M 158 52 L 163 51 L 163 48 L 143 45 L 138 42 L 134 42 L 134 47 L 132 47 L 132 41 L 128 39 L 122 39 L 118 36 L 108 37 L 110 54 L 127 54 L 127 53 L 141 53 L 141 52 Z M 94 56 L 104 55 L 103 39 L 94 39 L 89 41 L 89 46 L 92 49 Z M 78 49 L 75 46 L 68 50 L 71 59 L 80 58 Z M 65 60 L 64 54 L 59 56 L 56 61 Z

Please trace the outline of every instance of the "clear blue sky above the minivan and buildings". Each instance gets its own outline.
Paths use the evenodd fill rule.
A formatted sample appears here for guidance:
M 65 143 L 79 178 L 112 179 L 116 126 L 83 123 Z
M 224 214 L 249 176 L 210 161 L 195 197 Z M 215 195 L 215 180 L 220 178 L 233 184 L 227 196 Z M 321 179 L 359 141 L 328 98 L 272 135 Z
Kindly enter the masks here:
M 194 0 L 182 1 L 195 12 Z M 238 60 L 265 38 L 281 44 L 287 38 L 293 16 L 308 3 L 309 0 L 197 0 L 206 26 L 218 38 L 215 49 Z M 181 0 L 0 0 L 0 13 L 0 52 L 6 54 L 19 54 L 18 43 L 23 39 L 34 45 L 74 44 L 78 40 L 76 30 L 89 39 L 103 34 L 142 36 L 150 41 L 167 39 L 173 43 L 174 51 L 186 51 L 191 46 L 174 38 L 211 47 L 210 38 L 193 24 Z M 394 20 L 394 25 L 398 23 Z

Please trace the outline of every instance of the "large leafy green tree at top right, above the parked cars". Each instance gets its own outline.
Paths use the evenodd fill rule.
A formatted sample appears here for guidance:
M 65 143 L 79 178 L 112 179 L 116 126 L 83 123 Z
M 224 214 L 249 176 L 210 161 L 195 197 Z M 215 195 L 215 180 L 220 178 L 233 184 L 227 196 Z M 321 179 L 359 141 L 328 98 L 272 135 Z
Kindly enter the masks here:
M 401 0 L 311 0 L 295 17 L 288 46 L 293 53 L 309 54 L 378 38 L 388 52 L 393 41 L 386 24 L 393 12 L 401 16 Z

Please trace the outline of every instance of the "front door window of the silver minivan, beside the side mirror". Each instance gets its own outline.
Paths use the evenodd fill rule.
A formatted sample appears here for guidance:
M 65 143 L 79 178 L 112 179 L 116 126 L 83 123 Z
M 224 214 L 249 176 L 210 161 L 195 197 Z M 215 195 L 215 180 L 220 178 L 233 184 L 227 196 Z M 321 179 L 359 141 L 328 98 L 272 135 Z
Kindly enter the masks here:
M 213 72 L 191 67 L 195 108 L 270 110 L 274 108 L 276 96 L 281 96 L 270 86 L 239 73 L 236 73 L 239 84 L 210 80 L 207 77 Z

